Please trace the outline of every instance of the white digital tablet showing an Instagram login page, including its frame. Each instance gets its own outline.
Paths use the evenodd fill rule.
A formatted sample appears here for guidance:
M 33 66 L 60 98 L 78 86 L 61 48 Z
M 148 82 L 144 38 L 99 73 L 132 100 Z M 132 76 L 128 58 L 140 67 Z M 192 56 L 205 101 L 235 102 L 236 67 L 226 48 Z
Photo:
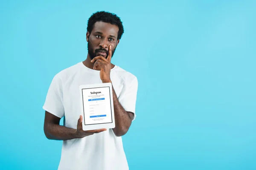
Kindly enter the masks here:
M 111 83 L 80 85 L 83 130 L 115 127 Z

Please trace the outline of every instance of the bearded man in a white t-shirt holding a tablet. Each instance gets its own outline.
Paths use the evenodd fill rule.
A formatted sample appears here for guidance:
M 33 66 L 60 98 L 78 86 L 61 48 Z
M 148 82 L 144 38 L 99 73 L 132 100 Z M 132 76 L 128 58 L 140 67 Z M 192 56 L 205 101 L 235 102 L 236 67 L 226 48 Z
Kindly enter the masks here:
M 59 170 L 128 170 L 122 137 L 135 119 L 137 77 L 111 63 L 124 32 L 116 14 L 94 13 L 88 20 L 87 59 L 52 79 L 44 103 L 44 133 L 63 140 Z M 79 85 L 111 82 L 116 127 L 82 130 Z M 59 125 L 64 116 L 64 126 Z

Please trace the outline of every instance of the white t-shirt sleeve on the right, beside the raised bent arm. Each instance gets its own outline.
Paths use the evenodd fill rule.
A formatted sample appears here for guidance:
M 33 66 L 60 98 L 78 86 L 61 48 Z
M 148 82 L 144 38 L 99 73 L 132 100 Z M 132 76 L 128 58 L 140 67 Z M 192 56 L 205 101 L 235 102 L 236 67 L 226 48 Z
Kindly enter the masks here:
M 125 88 L 124 93 L 120 94 L 119 96 L 119 103 L 125 109 L 125 111 L 129 111 L 134 113 L 134 117 L 132 121 L 134 121 L 136 114 L 135 114 L 135 106 L 136 106 L 136 99 L 137 99 L 137 90 L 138 90 L 138 80 L 135 77 L 130 85 Z

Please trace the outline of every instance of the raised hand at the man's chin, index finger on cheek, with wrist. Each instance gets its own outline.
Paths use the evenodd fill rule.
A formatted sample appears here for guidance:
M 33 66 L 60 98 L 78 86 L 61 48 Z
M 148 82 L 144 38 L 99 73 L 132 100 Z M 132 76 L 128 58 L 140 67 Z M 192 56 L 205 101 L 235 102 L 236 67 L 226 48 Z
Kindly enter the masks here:
M 110 79 L 111 57 L 112 57 L 112 49 L 111 49 L 111 45 L 109 45 L 107 59 L 100 55 L 100 56 L 94 57 L 91 60 L 91 62 L 96 61 L 93 65 L 93 69 L 100 70 L 99 76 L 103 83 L 111 82 L 111 79 Z

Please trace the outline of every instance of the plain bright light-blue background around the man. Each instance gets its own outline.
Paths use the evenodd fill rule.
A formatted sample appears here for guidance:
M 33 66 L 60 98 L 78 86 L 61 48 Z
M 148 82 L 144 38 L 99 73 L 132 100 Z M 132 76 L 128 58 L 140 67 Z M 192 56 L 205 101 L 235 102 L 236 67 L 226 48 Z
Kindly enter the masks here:
M 256 1 L 0 1 L 0 169 L 53 170 L 61 141 L 42 106 L 59 71 L 87 56 L 93 12 L 125 33 L 113 64 L 136 75 L 131 170 L 256 169 Z M 125 52 L 123 52 L 125 51 Z

